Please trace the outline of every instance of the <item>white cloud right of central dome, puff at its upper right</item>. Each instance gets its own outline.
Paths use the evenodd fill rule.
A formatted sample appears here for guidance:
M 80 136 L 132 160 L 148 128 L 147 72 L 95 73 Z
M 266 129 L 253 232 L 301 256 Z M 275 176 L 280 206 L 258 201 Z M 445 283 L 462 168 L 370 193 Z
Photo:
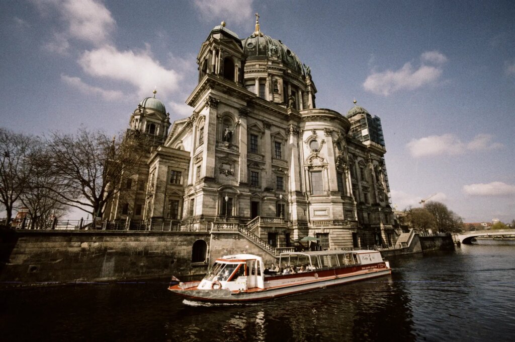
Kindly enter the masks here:
M 396 71 L 373 72 L 365 79 L 363 87 L 372 93 L 388 96 L 400 90 L 415 90 L 436 82 L 443 72 L 441 64 L 447 61 L 447 57 L 437 51 L 430 51 L 424 52 L 421 60 L 422 63 L 417 69 L 411 62 L 407 62 Z M 430 66 L 425 62 L 439 65 Z

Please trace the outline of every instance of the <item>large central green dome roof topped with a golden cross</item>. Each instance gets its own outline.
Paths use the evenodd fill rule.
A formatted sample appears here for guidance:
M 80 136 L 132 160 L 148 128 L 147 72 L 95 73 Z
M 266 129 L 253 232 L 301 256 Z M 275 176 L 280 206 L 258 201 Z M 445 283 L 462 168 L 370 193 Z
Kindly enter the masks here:
M 263 35 L 257 21 L 255 32 L 250 37 L 243 39 L 242 45 L 248 61 L 277 58 L 292 71 L 305 75 L 299 57 L 280 40 Z

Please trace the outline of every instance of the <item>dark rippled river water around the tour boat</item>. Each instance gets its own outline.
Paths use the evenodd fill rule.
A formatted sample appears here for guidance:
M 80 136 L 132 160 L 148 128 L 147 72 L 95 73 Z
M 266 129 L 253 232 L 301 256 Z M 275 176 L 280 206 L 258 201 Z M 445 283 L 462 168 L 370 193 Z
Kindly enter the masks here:
M 252 305 L 191 306 L 165 281 L 0 291 L 0 338 L 513 341 L 515 244 L 390 258 L 393 271 Z

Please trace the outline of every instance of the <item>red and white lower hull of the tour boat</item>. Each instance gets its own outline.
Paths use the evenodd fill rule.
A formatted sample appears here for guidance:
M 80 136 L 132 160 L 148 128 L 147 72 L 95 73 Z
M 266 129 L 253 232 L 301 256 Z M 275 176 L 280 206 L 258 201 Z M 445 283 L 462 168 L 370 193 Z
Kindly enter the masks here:
M 168 289 L 186 299 L 197 302 L 245 303 L 296 295 L 319 288 L 361 281 L 389 274 L 391 274 L 390 268 L 370 269 L 356 274 L 333 276 L 322 276 L 322 274 L 319 276 L 317 272 L 312 271 L 305 272 L 305 274 L 296 273 L 295 278 L 292 277 L 292 282 L 287 285 L 273 286 L 273 281 L 270 281 L 269 284 L 271 284 L 271 286 L 265 289 L 252 288 L 245 291 L 230 291 L 226 289 L 199 290 L 196 286 L 182 288 L 181 285 L 170 286 Z

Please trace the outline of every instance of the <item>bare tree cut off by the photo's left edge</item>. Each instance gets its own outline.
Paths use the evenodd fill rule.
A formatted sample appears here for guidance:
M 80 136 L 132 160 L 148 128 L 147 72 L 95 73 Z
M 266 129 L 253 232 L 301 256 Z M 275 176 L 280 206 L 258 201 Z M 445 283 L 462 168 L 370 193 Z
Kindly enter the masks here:
M 6 210 L 6 224 L 33 174 L 31 155 L 40 146 L 32 136 L 0 127 L 0 203 Z

